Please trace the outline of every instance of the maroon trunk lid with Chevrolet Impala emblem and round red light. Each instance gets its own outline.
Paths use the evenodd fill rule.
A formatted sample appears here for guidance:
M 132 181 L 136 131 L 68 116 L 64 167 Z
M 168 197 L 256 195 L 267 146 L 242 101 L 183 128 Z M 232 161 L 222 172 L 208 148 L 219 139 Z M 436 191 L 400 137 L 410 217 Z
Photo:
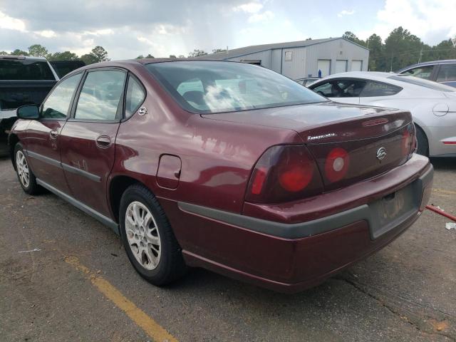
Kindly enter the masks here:
M 414 134 L 407 111 L 332 102 L 202 116 L 295 130 L 317 162 L 325 191 L 403 164 Z

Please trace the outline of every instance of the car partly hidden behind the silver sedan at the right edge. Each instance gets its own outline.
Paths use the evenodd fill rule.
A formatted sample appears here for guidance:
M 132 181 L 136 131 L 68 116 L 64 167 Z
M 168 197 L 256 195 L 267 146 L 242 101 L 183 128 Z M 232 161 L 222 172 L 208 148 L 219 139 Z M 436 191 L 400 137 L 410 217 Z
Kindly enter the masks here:
M 402 68 L 398 73 L 425 78 L 456 88 L 456 59 L 418 63 Z

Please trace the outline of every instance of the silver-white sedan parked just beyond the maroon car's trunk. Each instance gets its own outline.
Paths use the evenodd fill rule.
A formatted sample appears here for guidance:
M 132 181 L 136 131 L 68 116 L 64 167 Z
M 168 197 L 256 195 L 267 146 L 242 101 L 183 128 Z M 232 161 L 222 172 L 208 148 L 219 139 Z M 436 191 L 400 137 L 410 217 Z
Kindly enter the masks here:
M 309 88 L 336 102 L 410 110 L 418 153 L 456 157 L 456 88 L 413 76 L 369 71 L 338 73 Z

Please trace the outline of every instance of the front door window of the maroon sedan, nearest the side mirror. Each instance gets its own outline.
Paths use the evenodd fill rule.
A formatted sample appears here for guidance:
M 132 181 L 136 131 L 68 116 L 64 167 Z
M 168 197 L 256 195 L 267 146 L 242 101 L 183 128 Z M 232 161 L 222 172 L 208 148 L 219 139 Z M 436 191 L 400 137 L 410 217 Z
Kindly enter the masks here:
M 41 118 L 63 119 L 68 116 L 71 98 L 73 98 L 73 94 L 78 87 L 79 81 L 81 81 L 82 75 L 82 73 L 78 73 L 58 83 L 43 103 Z

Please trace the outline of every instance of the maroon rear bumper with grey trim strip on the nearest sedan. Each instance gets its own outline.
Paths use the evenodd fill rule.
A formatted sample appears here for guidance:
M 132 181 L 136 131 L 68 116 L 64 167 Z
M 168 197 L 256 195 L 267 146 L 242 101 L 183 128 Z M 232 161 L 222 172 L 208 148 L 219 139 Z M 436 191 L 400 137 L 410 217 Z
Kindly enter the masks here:
M 405 165 L 363 182 L 364 192 L 356 199 L 350 197 L 348 188 L 333 192 L 333 196 L 343 192 L 336 194 L 337 198 L 345 196 L 349 203 L 359 205 L 340 210 L 334 197 L 330 204 L 336 212 L 331 212 L 334 209 L 330 205 L 318 212 L 330 214 L 304 222 L 294 222 L 310 215 L 304 209 L 295 210 L 302 203 L 289 206 L 288 212 L 285 207 L 274 213 L 271 207 L 257 208 L 257 214 L 263 211 L 257 217 L 275 214 L 274 218 L 284 218 L 282 222 L 186 203 L 179 203 L 175 213 L 168 216 L 173 217 L 171 224 L 190 266 L 202 266 L 276 291 L 296 292 L 383 248 L 410 227 L 429 199 L 432 175 L 427 158 L 415 156 Z M 380 215 L 379 201 L 401 192 L 409 197 L 404 209 L 398 205 L 391 217 L 384 210 Z M 165 204 L 165 211 L 168 209 Z M 250 212 L 255 211 L 251 208 Z M 184 220 L 185 229 L 177 217 Z

